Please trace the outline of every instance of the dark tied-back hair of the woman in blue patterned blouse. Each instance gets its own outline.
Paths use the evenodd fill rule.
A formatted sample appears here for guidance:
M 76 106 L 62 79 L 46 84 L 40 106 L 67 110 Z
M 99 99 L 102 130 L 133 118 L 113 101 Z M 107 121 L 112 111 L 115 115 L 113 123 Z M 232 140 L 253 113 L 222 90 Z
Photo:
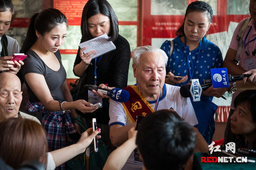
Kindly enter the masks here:
M 186 16 L 190 13 L 190 12 L 195 12 L 195 11 L 200 11 L 200 12 L 205 12 L 207 14 L 209 23 L 212 22 L 212 8 L 211 6 L 209 6 L 208 3 L 205 3 L 203 1 L 195 1 L 189 4 L 189 6 L 186 8 L 186 13 L 185 13 L 185 17 L 184 17 L 184 21 L 182 23 L 182 25 L 180 26 L 180 28 L 176 31 L 176 35 L 180 35 L 183 36 L 185 35 L 184 32 L 184 23 L 185 23 L 185 19 Z

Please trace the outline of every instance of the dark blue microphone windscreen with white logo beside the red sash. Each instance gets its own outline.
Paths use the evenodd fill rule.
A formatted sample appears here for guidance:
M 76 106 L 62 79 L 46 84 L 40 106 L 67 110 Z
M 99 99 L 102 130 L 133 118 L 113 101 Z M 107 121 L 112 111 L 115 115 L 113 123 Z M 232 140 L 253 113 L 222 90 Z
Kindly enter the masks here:
M 116 102 L 127 102 L 130 99 L 130 94 L 126 90 L 113 88 L 110 91 L 109 97 Z

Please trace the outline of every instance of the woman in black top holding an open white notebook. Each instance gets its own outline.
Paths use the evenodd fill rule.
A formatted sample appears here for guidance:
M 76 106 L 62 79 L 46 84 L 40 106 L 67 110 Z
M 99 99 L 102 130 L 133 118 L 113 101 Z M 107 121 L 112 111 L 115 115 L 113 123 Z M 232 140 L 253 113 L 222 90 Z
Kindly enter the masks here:
M 85 119 L 97 119 L 97 125 L 108 125 L 109 99 L 100 92 L 88 91 L 83 85 L 96 85 L 101 88 L 124 88 L 127 86 L 128 69 L 131 59 L 131 50 L 128 41 L 118 34 L 118 20 L 113 8 L 107 0 L 89 0 L 84 6 L 81 19 L 81 43 L 108 34 L 116 46 L 116 50 L 91 59 L 95 50 L 83 53 L 86 47 L 78 50 L 74 63 L 74 74 L 82 78 L 81 88 L 77 99 L 85 99 L 88 102 L 102 103 L 102 108 L 93 113 L 81 114 Z M 103 99 L 102 99 L 103 98 Z M 78 113 L 81 113 L 78 111 Z M 98 125 L 98 127 L 100 127 Z M 101 128 L 103 131 L 108 130 Z M 108 131 L 105 136 L 109 138 Z M 106 138 L 105 137 L 105 138 Z

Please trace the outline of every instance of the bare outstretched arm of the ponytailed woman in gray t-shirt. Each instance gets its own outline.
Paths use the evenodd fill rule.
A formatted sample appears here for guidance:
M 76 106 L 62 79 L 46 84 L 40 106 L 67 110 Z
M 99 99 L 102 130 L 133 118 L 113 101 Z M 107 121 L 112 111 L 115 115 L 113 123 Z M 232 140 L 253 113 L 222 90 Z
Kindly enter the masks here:
M 35 96 L 38 97 L 38 99 L 49 111 L 62 111 L 59 102 L 52 98 L 43 75 L 28 73 L 25 75 L 25 79 Z M 86 102 L 85 100 L 64 102 L 62 104 L 62 108 L 64 110 L 78 109 L 83 113 L 92 113 L 93 111 L 96 111 L 96 108 L 90 108 L 88 106 L 90 106 L 90 103 Z

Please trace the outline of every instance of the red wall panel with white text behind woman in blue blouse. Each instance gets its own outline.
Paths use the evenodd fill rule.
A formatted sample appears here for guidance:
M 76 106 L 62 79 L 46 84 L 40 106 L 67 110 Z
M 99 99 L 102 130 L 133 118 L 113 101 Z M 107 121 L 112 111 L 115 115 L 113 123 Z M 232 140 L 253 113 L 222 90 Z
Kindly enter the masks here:
M 195 0 L 188 0 L 189 3 Z M 249 15 L 227 15 L 227 0 L 217 0 L 217 15 L 213 15 L 212 26 L 208 34 L 227 31 L 230 21 L 237 22 Z M 151 45 L 152 38 L 175 38 L 175 32 L 184 20 L 183 15 L 152 15 L 151 1 L 143 0 L 142 3 L 142 45 Z

